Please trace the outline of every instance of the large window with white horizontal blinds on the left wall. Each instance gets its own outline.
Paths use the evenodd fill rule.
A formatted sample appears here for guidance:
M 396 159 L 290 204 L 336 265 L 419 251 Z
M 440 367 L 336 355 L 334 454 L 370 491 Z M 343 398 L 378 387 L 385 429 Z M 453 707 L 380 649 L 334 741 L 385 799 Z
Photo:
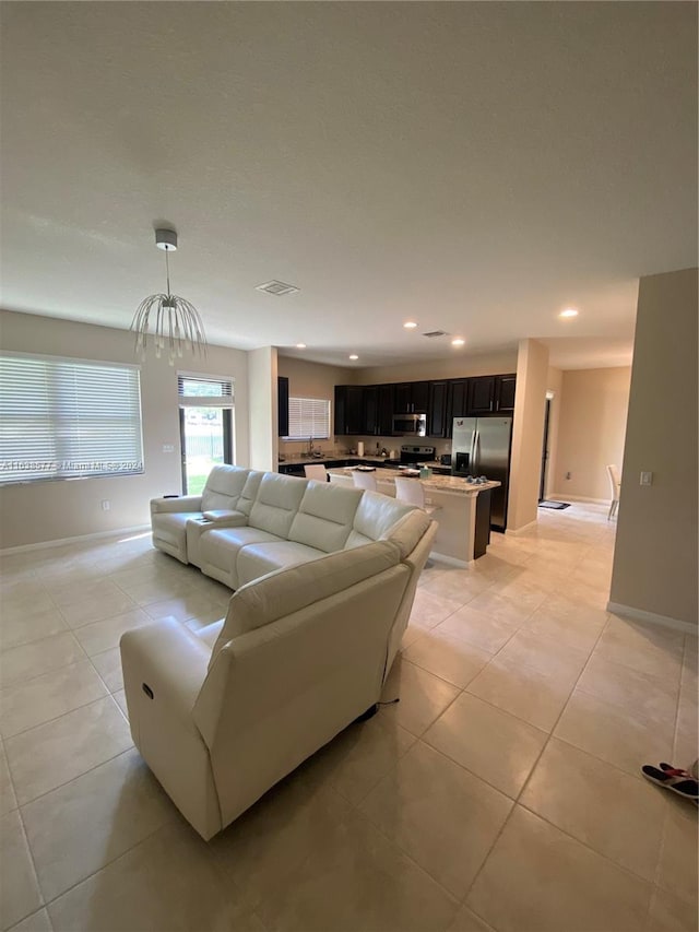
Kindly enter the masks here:
M 137 366 L 0 356 L 0 483 L 141 472 Z

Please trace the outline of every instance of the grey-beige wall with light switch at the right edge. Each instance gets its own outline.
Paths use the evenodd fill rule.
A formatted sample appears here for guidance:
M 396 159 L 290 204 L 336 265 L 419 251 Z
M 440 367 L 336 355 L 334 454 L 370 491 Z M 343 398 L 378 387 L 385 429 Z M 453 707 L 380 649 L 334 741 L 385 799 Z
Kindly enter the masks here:
M 697 269 L 641 279 L 609 601 L 697 626 Z M 653 483 L 641 486 L 641 471 Z

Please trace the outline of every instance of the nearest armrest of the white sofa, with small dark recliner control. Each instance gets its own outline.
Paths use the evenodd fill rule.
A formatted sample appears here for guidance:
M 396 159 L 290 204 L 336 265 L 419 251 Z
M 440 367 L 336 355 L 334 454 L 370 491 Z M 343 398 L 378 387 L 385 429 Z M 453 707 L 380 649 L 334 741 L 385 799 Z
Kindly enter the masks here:
M 129 711 L 144 693 L 177 718 L 191 722 L 211 657 L 208 645 L 174 618 L 163 618 L 126 632 L 119 646 Z

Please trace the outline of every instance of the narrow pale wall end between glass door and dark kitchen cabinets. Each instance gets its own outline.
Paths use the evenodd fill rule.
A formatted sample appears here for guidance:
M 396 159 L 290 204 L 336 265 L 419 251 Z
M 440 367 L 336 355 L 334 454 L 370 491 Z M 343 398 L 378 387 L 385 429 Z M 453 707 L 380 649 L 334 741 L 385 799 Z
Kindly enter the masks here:
M 250 468 L 276 472 L 279 455 L 277 356 L 274 346 L 248 353 Z

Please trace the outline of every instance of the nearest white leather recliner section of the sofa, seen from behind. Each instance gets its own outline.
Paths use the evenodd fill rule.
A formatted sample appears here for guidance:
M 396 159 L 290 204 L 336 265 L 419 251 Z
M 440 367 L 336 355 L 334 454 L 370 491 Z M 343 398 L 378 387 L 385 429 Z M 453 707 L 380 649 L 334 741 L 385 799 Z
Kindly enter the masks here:
M 352 545 L 242 586 L 221 622 L 122 636 L 133 741 L 203 838 L 378 701 L 436 524 L 374 505 Z

